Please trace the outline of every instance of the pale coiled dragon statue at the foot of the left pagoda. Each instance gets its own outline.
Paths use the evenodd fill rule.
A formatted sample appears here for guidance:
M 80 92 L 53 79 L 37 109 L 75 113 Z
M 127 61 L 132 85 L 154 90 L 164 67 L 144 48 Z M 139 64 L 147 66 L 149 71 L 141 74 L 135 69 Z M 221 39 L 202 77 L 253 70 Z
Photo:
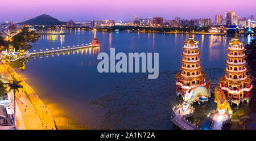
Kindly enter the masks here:
M 183 111 L 188 109 L 190 104 L 198 101 L 208 101 L 208 97 L 210 97 L 210 90 L 209 90 L 209 82 L 207 83 L 207 87 L 205 86 L 197 86 L 195 88 L 189 89 L 186 91 L 184 101 L 183 101 Z

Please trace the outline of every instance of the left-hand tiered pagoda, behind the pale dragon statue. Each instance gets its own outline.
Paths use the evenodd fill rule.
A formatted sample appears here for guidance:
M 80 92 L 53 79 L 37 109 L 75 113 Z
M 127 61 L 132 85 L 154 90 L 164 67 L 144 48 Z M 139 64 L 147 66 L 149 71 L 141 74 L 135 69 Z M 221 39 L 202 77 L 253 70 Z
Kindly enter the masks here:
M 200 65 L 199 42 L 195 41 L 190 33 L 189 39 L 183 43 L 183 53 L 181 54 L 183 58 L 180 61 L 182 63 L 181 72 L 175 76 L 177 78 L 177 94 L 182 96 L 188 89 L 206 86 L 205 79 L 207 78 Z

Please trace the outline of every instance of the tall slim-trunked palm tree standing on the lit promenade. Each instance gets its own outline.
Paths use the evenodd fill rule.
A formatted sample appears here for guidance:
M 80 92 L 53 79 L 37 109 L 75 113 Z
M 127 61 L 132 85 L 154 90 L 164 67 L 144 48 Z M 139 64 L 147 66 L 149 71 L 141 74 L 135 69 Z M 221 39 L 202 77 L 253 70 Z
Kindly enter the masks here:
M 10 87 L 9 92 L 13 90 L 13 94 L 14 94 L 14 127 L 16 127 L 16 96 L 15 93 L 16 91 L 19 92 L 19 88 L 22 88 L 23 86 L 21 86 L 19 83 L 21 81 L 17 81 L 16 79 L 13 78 L 13 82 L 12 83 L 7 83 L 8 87 Z

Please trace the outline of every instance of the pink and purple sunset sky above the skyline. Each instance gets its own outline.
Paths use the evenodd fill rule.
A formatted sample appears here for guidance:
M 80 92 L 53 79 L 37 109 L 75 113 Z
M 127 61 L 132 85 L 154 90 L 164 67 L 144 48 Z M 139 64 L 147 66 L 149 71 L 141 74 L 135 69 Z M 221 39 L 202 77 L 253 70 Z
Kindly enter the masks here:
M 0 2 L 0 22 L 23 21 L 47 14 L 61 21 L 90 19 L 129 20 L 162 16 L 164 19 L 212 18 L 234 11 L 242 18 L 256 16 L 256 0 L 9 0 Z

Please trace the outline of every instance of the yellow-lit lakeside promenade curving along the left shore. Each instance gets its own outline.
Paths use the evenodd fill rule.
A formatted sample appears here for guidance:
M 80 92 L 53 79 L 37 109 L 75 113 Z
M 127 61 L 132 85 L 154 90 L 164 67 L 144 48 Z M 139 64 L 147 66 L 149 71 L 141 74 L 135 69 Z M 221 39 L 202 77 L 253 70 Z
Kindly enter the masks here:
M 55 130 L 56 126 L 47 106 L 39 99 L 30 86 L 5 61 L 0 64 L 0 71 L 8 80 L 15 78 L 23 88 L 16 92 L 16 127 L 17 129 L 45 129 Z M 9 88 L 7 88 L 9 90 Z M 13 92 L 10 92 L 13 97 Z M 12 98 L 13 99 L 13 98 Z M 19 108 L 19 110 L 17 110 Z M 23 123 L 22 123 L 23 121 Z M 23 125 L 24 124 L 24 125 Z

